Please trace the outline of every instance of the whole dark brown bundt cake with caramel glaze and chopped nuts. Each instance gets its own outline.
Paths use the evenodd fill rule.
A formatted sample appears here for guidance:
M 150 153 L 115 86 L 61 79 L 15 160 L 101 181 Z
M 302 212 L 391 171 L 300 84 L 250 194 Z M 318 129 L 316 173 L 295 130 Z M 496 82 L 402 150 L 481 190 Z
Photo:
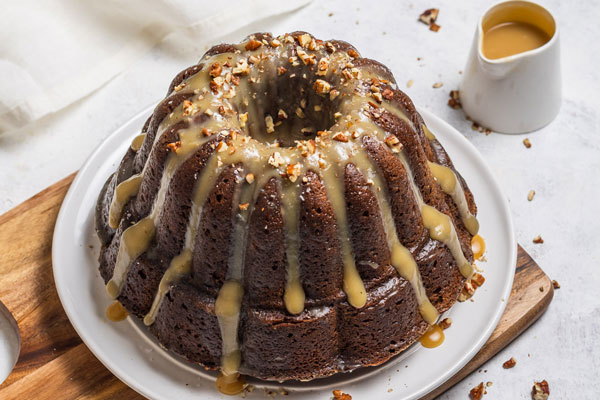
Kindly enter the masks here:
M 96 209 L 110 296 L 234 379 L 378 365 L 474 274 L 473 195 L 392 73 L 256 33 L 175 77 Z

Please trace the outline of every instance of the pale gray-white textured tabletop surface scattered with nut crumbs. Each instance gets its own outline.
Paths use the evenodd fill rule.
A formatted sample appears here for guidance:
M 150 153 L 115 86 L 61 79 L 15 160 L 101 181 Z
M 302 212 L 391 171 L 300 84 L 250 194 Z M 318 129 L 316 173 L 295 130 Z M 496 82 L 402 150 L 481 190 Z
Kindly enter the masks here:
M 543 2 L 561 29 L 564 98 L 560 114 L 531 134 L 485 136 L 471 130 L 462 112 L 450 109 L 446 102 L 448 92 L 458 86 L 458 71 L 464 66 L 477 18 L 492 3 L 314 2 L 277 21 L 243 28 L 230 40 L 257 30 L 302 29 L 320 38 L 347 40 L 363 56 L 388 65 L 417 105 L 463 132 L 487 159 L 509 198 L 519 242 L 562 285 L 538 323 L 442 398 L 467 398 L 472 386 L 491 381 L 485 399 L 527 399 L 535 379 L 548 380 L 551 398 L 596 398 L 600 11 L 590 0 Z M 440 8 L 438 33 L 416 21 L 432 6 Z M 0 213 L 76 170 L 103 138 L 164 96 L 175 73 L 204 51 L 185 50 L 188 53 L 167 40 L 83 101 L 21 132 L 1 136 Z M 411 79 L 414 84 L 407 88 Z M 433 89 L 435 82 L 444 86 Z M 530 149 L 522 144 L 525 137 L 531 140 Z M 536 191 L 532 202 L 527 201 L 530 189 Z M 532 243 L 538 234 L 544 244 Z M 516 367 L 502 369 L 511 356 Z M 383 394 L 389 395 L 384 388 Z

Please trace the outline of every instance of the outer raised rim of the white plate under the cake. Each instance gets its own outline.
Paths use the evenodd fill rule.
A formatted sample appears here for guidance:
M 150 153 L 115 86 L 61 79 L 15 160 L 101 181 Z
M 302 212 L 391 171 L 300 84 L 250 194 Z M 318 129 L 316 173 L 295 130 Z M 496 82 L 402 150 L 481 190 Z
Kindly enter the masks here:
M 56 219 L 56 225 L 55 225 L 53 237 L 52 237 L 52 271 L 53 271 L 54 282 L 55 282 L 55 286 L 57 289 L 59 299 L 61 301 L 61 304 L 63 306 L 65 314 L 67 314 L 67 317 L 69 318 L 71 325 L 77 332 L 77 334 L 80 337 L 80 339 L 82 340 L 82 342 L 87 346 L 87 348 L 92 352 L 92 354 L 94 354 L 94 356 L 111 373 L 113 373 L 118 379 L 120 379 L 123 383 L 125 383 L 127 386 L 129 386 L 130 388 L 132 388 L 139 394 L 141 394 L 143 396 L 148 396 L 151 398 L 156 393 L 154 393 L 152 390 L 149 390 L 147 387 L 140 385 L 137 379 L 134 379 L 132 381 L 130 375 L 127 374 L 125 371 L 123 371 L 119 366 L 115 365 L 110 360 L 110 357 L 106 356 L 106 354 L 102 351 L 102 349 L 96 347 L 95 341 L 87 336 L 88 333 L 84 332 L 84 330 L 82 330 L 81 327 L 79 327 L 77 325 L 77 323 L 75 322 L 75 321 L 77 321 L 77 319 L 75 318 L 76 312 L 75 312 L 75 310 L 71 309 L 71 303 L 66 298 L 66 292 L 65 292 L 66 288 L 64 288 L 62 286 L 62 280 L 59 279 L 60 273 L 58 272 L 56 265 L 59 264 L 58 258 L 59 258 L 59 254 L 61 254 L 61 249 L 59 248 L 59 244 L 61 243 L 60 233 L 64 229 L 63 224 L 65 223 L 66 214 L 68 213 L 67 206 L 73 201 L 73 198 L 76 196 L 76 192 L 77 192 L 77 189 L 79 189 L 79 186 L 81 185 L 80 181 L 83 179 L 83 175 L 88 173 L 88 169 L 91 168 L 92 161 L 94 161 L 96 159 L 96 157 L 99 155 L 99 153 L 103 152 L 104 147 L 108 143 L 114 141 L 117 137 L 119 137 L 122 134 L 123 130 L 129 130 L 130 129 L 129 125 L 131 125 L 134 121 L 141 119 L 143 116 L 150 115 L 150 112 L 151 112 L 151 110 L 154 109 L 155 104 L 157 104 L 157 103 L 153 103 L 153 105 L 148 106 L 148 107 L 144 108 L 142 111 L 140 111 L 139 113 L 135 114 L 132 118 L 127 120 L 119 128 L 114 130 L 111 134 L 106 136 L 106 138 L 104 138 L 102 141 L 100 141 L 100 143 L 92 151 L 90 156 L 86 159 L 86 161 L 83 163 L 81 168 L 78 170 L 77 175 L 75 176 L 74 180 L 72 181 L 72 183 L 69 187 L 69 190 L 67 191 L 67 194 L 65 195 L 65 197 L 63 199 L 63 202 L 61 204 L 61 207 L 60 207 L 57 219 Z M 442 126 L 445 131 L 449 132 L 452 139 L 455 140 L 461 147 L 466 147 L 468 149 L 469 155 L 473 155 L 477 159 L 477 163 L 483 168 L 483 170 L 484 170 L 483 173 L 491 178 L 489 180 L 489 182 L 487 182 L 487 184 L 490 185 L 491 187 L 493 187 L 495 192 L 499 195 L 498 204 L 501 207 L 500 211 L 503 214 L 503 217 L 506 217 L 503 219 L 504 219 L 505 223 L 507 224 L 507 228 L 508 228 L 507 229 L 507 233 L 508 233 L 507 243 L 510 244 L 509 254 L 508 254 L 507 258 L 508 258 L 508 261 L 510 261 L 510 263 L 511 263 L 511 267 L 509 270 L 512 271 L 512 273 L 509 273 L 507 276 L 507 279 L 504 281 L 504 287 L 502 288 L 503 301 L 499 302 L 498 307 L 495 309 L 493 318 L 490 318 L 488 320 L 488 323 L 486 324 L 487 328 L 485 329 L 483 334 L 480 334 L 478 336 L 479 339 L 471 347 L 471 350 L 468 352 L 465 352 L 458 362 L 454 362 L 452 368 L 449 368 L 448 370 L 446 370 L 445 373 L 443 373 L 441 376 L 438 376 L 437 379 L 434 379 L 428 385 L 423 386 L 420 389 L 416 390 L 411 395 L 411 397 L 409 397 L 410 399 L 420 398 L 420 397 L 426 395 L 427 393 L 430 393 L 437 387 L 441 386 L 448 379 L 450 379 L 452 376 L 454 376 L 454 374 L 456 374 L 458 371 L 460 371 L 460 369 L 462 369 L 464 367 L 464 365 L 466 365 L 477 354 L 477 352 L 483 347 L 483 345 L 487 342 L 487 340 L 489 339 L 489 337 L 491 336 L 493 331 L 496 329 L 496 327 L 500 321 L 500 318 L 502 317 L 502 314 L 504 313 L 506 304 L 508 303 L 508 298 L 510 296 L 510 291 L 511 291 L 513 280 L 514 280 L 514 266 L 516 265 L 516 260 L 517 260 L 517 240 L 516 240 L 516 235 L 515 235 L 515 228 L 514 228 L 512 213 L 510 211 L 510 207 L 508 204 L 508 199 L 507 199 L 506 195 L 504 194 L 504 191 L 502 190 L 500 184 L 498 183 L 498 180 L 496 179 L 495 175 L 492 173 L 490 167 L 483 159 L 483 156 L 479 153 L 479 151 L 473 145 L 473 143 L 471 143 L 461 132 L 459 132 L 456 128 L 451 126 L 448 122 L 444 121 L 442 118 L 438 117 L 437 115 L 435 115 L 433 112 L 429 111 L 428 109 L 425 109 L 422 107 L 417 107 L 417 111 L 419 112 L 419 114 L 421 114 L 421 116 L 423 117 L 423 119 L 425 120 L 426 123 L 429 124 L 432 121 L 434 121 L 434 124 Z M 94 171 L 94 172 L 96 172 L 96 171 Z M 170 352 L 167 352 L 167 353 L 170 354 Z M 393 362 L 393 359 L 391 362 Z M 384 363 L 383 365 L 385 366 L 386 364 L 387 363 Z M 360 382 L 358 382 L 358 384 L 360 384 Z

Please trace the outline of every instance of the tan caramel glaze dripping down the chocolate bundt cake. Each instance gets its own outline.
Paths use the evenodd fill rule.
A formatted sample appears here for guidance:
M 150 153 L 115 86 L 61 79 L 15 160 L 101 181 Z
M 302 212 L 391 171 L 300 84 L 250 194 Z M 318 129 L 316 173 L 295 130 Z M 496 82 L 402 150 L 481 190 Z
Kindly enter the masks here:
M 202 60 L 205 67 L 174 89 L 175 92 L 190 93 L 192 97 L 182 102 L 164 118 L 154 138 L 156 144 L 168 127 L 180 121 L 188 123 L 188 128 L 179 131 L 179 141 L 167 157 L 152 210 L 148 216 L 128 227 L 121 236 L 113 276 L 107 284 L 107 291 L 113 298 L 120 295 L 132 261 L 148 249 L 154 237 L 156 218 L 163 208 L 169 183 L 177 169 L 200 148 L 211 146 L 213 154 L 206 161 L 200 178 L 195 184 L 184 247 L 171 260 L 159 283 L 151 309 L 144 317 L 144 323 L 151 325 L 166 293 L 180 279 L 190 274 L 193 244 L 210 188 L 225 166 L 241 165 L 236 167 L 236 174 L 239 177 L 236 189 L 239 211 L 234 215 L 227 279 L 215 301 L 215 314 L 219 320 L 223 343 L 219 385 L 228 387 L 228 390 L 243 388 L 238 372 L 241 350 L 237 330 L 244 295 L 241 282 L 248 220 L 259 190 L 272 178 L 278 180 L 281 192 L 288 261 L 283 301 L 290 314 L 304 311 L 305 294 L 300 277 L 298 254 L 300 204 L 298 199 L 300 182 L 306 179 L 305 174 L 309 170 L 320 172 L 319 175 L 334 210 L 344 266 L 343 289 L 348 302 L 356 308 L 363 307 L 367 302 L 364 283 L 355 265 L 346 217 L 343 176 L 345 166 L 351 162 L 373 182 L 375 189 L 373 192 L 384 221 L 392 266 L 412 285 L 424 320 L 433 324 L 438 318 L 437 310 L 427 298 L 412 254 L 398 239 L 387 188 L 380 172 L 360 145 L 363 136 L 373 136 L 382 143 L 389 143 L 386 139 L 390 135 L 377 126 L 368 115 L 374 100 L 379 102 L 380 107 L 409 123 L 410 121 L 401 110 L 384 101 L 381 95 L 378 95 L 379 91 L 373 89 L 374 86 L 371 86 L 370 91 L 365 89 L 363 85 L 365 81 L 370 80 L 377 86 L 380 78 L 368 67 L 354 67 L 353 57 L 347 52 L 336 51 L 329 55 L 324 52 L 320 55 L 311 53 L 313 50 L 318 51 L 331 46 L 334 45 L 315 41 L 308 34 L 298 38 L 285 35 L 270 43 L 251 38 L 246 43 L 234 46 L 233 52 L 206 56 Z M 295 49 L 297 56 L 290 57 L 290 47 Z M 321 59 L 316 59 L 316 56 L 321 57 L 323 54 L 325 56 Z M 335 96 L 342 96 L 339 113 L 334 116 L 335 124 L 328 131 L 318 132 L 314 141 L 302 140 L 302 136 L 294 137 L 296 132 L 300 131 L 298 121 L 301 122 L 304 118 L 301 108 L 296 110 L 298 119 L 293 123 L 282 125 L 281 121 L 278 121 L 278 116 L 269 115 L 264 118 L 265 110 L 262 104 L 260 101 L 255 101 L 257 93 L 266 92 L 269 83 L 277 79 L 280 67 L 285 65 L 291 68 L 302 63 L 309 66 L 311 63 L 317 64 L 317 75 L 321 83 L 315 85 L 314 90 L 318 94 L 333 98 L 334 92 L 337 92 Z M 208 118 L 194 118 L 199 113 L 206 114 Z M 412 123 L 410 124 L 413 126 Z M 425 129 L 425 132 L 429 140 L 435 138 L 428 129 Z M 296 146 L 281 147 L 278 142 L 280 135 L 297 138 L 298 140 L 294 140 Z M 144 135 L 136 137 L 131 148 L 137 151 L 143 140 Z M 209 143 L 209 140 L 212 142 Z M 423 202 L 406 156 L 401 151 L 394 151 L 394 154 L 402 161 L 407 171 L 412 192 L 421 209 L 424 226 L 429 230 L 430 236 L 449 247 L 461 273 L 470 278 L 473 268 L 462 253 L 452 220 Z M 116 228 L 119 225 L 124 206 L 136 196 L 147 165 L 148 162 L 139 175 L 134 175 L 117 186 L 110 208 L 111 227 Z M 463 221 L 469 219 L 472 215 L 464 213 L 463 205 L 466 204 L 466 200 L 460 183 L 456 182 L 456 176 L 444 170 L 445 167 L 439 167 L 441 166 L 430 164 L 432 173 L 442 190 L 449 193 L 457 203 Z M 252 179 L 248 178 L 250 176 Z M 471 231 L 466 223 L 465 226 Z

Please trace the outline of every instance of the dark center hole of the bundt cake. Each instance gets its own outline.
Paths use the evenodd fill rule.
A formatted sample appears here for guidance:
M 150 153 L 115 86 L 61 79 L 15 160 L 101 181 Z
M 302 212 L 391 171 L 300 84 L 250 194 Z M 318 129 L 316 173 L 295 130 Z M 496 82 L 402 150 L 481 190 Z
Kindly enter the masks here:
M 306 76 L 306 78 L 303 77 Z M 249 113 L 250 136 L 264 143 L 295 147 L 296 141 L 314 139 L 335 123 L 334 104 L 329 96 L 313 89 L 315 79 L 308 74 L 279 77 L 254 98 L 255 113 Z

